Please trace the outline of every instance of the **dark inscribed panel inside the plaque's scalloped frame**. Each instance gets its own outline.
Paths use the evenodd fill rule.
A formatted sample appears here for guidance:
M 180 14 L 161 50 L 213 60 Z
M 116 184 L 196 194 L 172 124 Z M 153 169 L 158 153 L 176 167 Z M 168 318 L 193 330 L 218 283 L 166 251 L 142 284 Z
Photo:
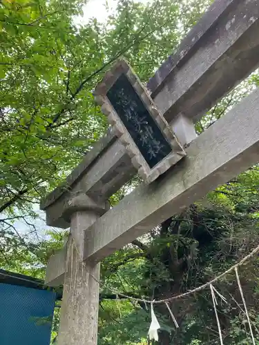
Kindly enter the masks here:
M 107 97 L 150 168 L 172 152 L 162 130 L 125 74 L 115 81 Z

